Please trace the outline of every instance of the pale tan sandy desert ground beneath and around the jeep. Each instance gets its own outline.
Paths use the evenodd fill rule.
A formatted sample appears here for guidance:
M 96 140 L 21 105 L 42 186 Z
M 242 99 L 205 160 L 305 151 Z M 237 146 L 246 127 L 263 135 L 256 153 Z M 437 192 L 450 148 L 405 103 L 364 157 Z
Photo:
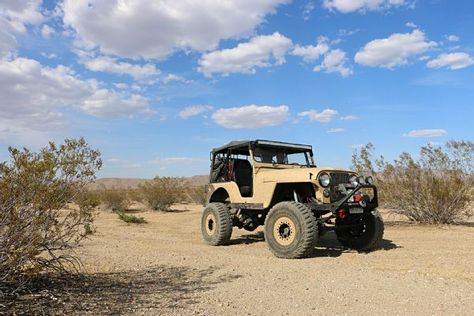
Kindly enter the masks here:
M 385 214 L 382 249 L 364 254 L 325 235 L 311 258 L 273 257 L 261 230 L 231 245 L 201 240 L 201 207 L 101 212 L 78 250 L 91 273 L 47 312 L 138 315 L 472 315 L 474 227 L 427 227 Z

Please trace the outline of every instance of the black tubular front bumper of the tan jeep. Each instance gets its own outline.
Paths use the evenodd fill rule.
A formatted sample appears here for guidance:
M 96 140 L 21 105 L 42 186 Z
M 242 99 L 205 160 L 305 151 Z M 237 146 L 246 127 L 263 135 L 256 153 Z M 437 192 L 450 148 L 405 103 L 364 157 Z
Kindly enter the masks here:
M 368 200 L 362 200 L 361 202 L 349 202 L 350 198 L 353 197 L 357 192 L 359 192 L 360 189 L 372 189 L 373 191 L 373 197 Z M 363 208 L 364 211 L 371 211 L 375 209 L 376 207 L 379 206 L 379 199 L 378 199 L 378 193 L 377 193 L 377 187 L 373 184 L 359 184 L 356 187 L 351 187 L 351 186 L 344 186 L 342 194 L 344 197 L 341 199 L 329 203 L 329 204 L 318 204 L 318 203 L 310 203 L 309 207 L 313 211 L 319 211 L 319 212 L 331 212 L 333 214 L 336 214 L 336 212 L 343 208 Z

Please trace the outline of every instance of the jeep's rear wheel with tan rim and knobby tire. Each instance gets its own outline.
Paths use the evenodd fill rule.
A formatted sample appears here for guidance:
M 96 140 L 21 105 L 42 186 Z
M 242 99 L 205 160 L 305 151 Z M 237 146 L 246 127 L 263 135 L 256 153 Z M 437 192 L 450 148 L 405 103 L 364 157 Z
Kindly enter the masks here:
M 224 203 L 209 203 L 202 213 L 201 232 L 212 246 L 224 245 L 232 235 L 232 218 Z

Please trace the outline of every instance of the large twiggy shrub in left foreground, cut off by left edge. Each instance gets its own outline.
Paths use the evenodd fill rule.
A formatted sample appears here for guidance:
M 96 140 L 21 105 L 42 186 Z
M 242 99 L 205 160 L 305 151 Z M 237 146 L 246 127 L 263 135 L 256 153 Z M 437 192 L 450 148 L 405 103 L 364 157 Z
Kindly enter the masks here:
M 9 148 L 0 163 L 0 294 L 38 273 L 78 267 L 71 251 L 88 233 L 93 208 L 66 208 L 95 178 L 100 153 L 84 139 L 38 152 Z

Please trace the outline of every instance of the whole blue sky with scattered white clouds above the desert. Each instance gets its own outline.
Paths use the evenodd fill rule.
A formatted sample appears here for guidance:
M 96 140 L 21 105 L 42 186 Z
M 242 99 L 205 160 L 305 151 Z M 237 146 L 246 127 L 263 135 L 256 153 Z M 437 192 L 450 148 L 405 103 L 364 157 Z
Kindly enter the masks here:
M 101 177 L 206 174 L 234 139 L 348 167 L 474 140 L 474 2 L 0 2 L 0 159 L 84 136 Z

